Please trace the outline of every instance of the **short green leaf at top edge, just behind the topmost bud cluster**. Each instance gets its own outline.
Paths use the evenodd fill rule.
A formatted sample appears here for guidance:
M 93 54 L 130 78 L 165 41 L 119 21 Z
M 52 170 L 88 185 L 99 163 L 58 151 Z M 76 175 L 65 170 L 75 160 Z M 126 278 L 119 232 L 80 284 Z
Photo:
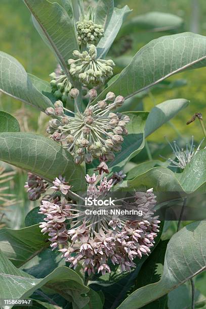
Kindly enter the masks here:
M 107 28 L 114 10 L 114 0 L 99 0 L 97 3 L 95 23 Z

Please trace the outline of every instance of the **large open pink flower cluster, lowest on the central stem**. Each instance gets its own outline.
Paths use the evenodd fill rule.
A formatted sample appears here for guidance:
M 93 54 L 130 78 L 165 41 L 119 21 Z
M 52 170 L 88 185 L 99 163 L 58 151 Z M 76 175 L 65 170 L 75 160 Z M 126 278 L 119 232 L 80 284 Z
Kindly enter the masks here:
M 113 178 L 107 179 L 102 174 L 97 186 L 98 176 L 86 176 L 88 183 L 87 197 L 104 200 L 113 187 Z M 55 182 L 58 182 L 57 179 Z M 40 223 L 42 232 L 49 233 L 51 247 L 62 252 L 65 261 L 74 268 L 77 263 L 83 264 L 85 272 L 103 275 L 110 272 L 109 261 L 119 265 L 121 271 L 130 271 L 136 267 L 134 259 L 148 255 L 154 245 L 154 239 L 159 231 L 158 217 L 154 217 L 156 196 L 152 189 L 146 192 L 136 192 L 133 202 L 127 198 L 115 200 L 112 209 L 142 210 L 142 217 L 131 220 L 125 215 L 111 215 L 111 207 L 105 207 L 105 215 L 94 215 L 93 211 L 102 207 L 93 203 L 90 206 L 63 201 L 43 200 L 40 214 L 46 216 L 45 222 Z M 85 201 L 79 196 L 79 200 Z M 89 214 L 85 212 L 88 209 Z M 68 225 L 69 222 L 69 225 Z M 69 228 L 68 228 L 69 226 Z M 63 248 L 62 248 L 63 246 Z

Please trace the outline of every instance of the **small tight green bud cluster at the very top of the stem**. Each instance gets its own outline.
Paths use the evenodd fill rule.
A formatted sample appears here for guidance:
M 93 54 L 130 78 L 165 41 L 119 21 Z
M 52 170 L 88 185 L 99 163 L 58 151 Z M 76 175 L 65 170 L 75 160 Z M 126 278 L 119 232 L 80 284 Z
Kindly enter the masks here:
M 76 29 L 79 44 L 97 44 L 100 38 L 104 35 L 104 28 L 102 25 L 94 24 L 92 20 L 77 22 Z

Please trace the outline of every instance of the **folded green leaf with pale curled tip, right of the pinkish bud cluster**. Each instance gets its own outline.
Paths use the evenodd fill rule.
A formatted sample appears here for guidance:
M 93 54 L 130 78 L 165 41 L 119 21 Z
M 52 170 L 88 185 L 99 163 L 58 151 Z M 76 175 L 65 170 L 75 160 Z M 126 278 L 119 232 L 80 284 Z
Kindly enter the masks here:
M 149 113 L 145 124 L 145 137 L 172 119 L 182 109 L 185 109 L 188 104 L 189 101 L 186 99 L 173 99 L 155 106 Z

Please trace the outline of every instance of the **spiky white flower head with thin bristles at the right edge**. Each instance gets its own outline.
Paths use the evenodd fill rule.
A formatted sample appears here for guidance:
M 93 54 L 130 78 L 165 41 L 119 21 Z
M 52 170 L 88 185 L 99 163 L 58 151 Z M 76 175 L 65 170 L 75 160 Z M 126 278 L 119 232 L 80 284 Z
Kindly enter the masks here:
M 175 159 L 167 159 L 171 162 L 171 167 L 178 167 L 182 170 L 186 168 L 186 166 L 190 163 L 191 159 L 196 155 L 196 153 L 200 150 L 201 144 L 203 143 L 204 138 L 201 140 L 199 145 L 195 147 L 194 145 L 194 136 L 192 136 L 190 145 L 186 143 L 186 149 L 180 148 L 176 141 L 173 142 L 173 145 L 169 142 L 173 153 L 175 155 Z M 204 147 L 203 149 L 205 149 Z M 163 158 L 163 157 L 162 157 Z M 166 158 L 164 158 L 166 159 Z

